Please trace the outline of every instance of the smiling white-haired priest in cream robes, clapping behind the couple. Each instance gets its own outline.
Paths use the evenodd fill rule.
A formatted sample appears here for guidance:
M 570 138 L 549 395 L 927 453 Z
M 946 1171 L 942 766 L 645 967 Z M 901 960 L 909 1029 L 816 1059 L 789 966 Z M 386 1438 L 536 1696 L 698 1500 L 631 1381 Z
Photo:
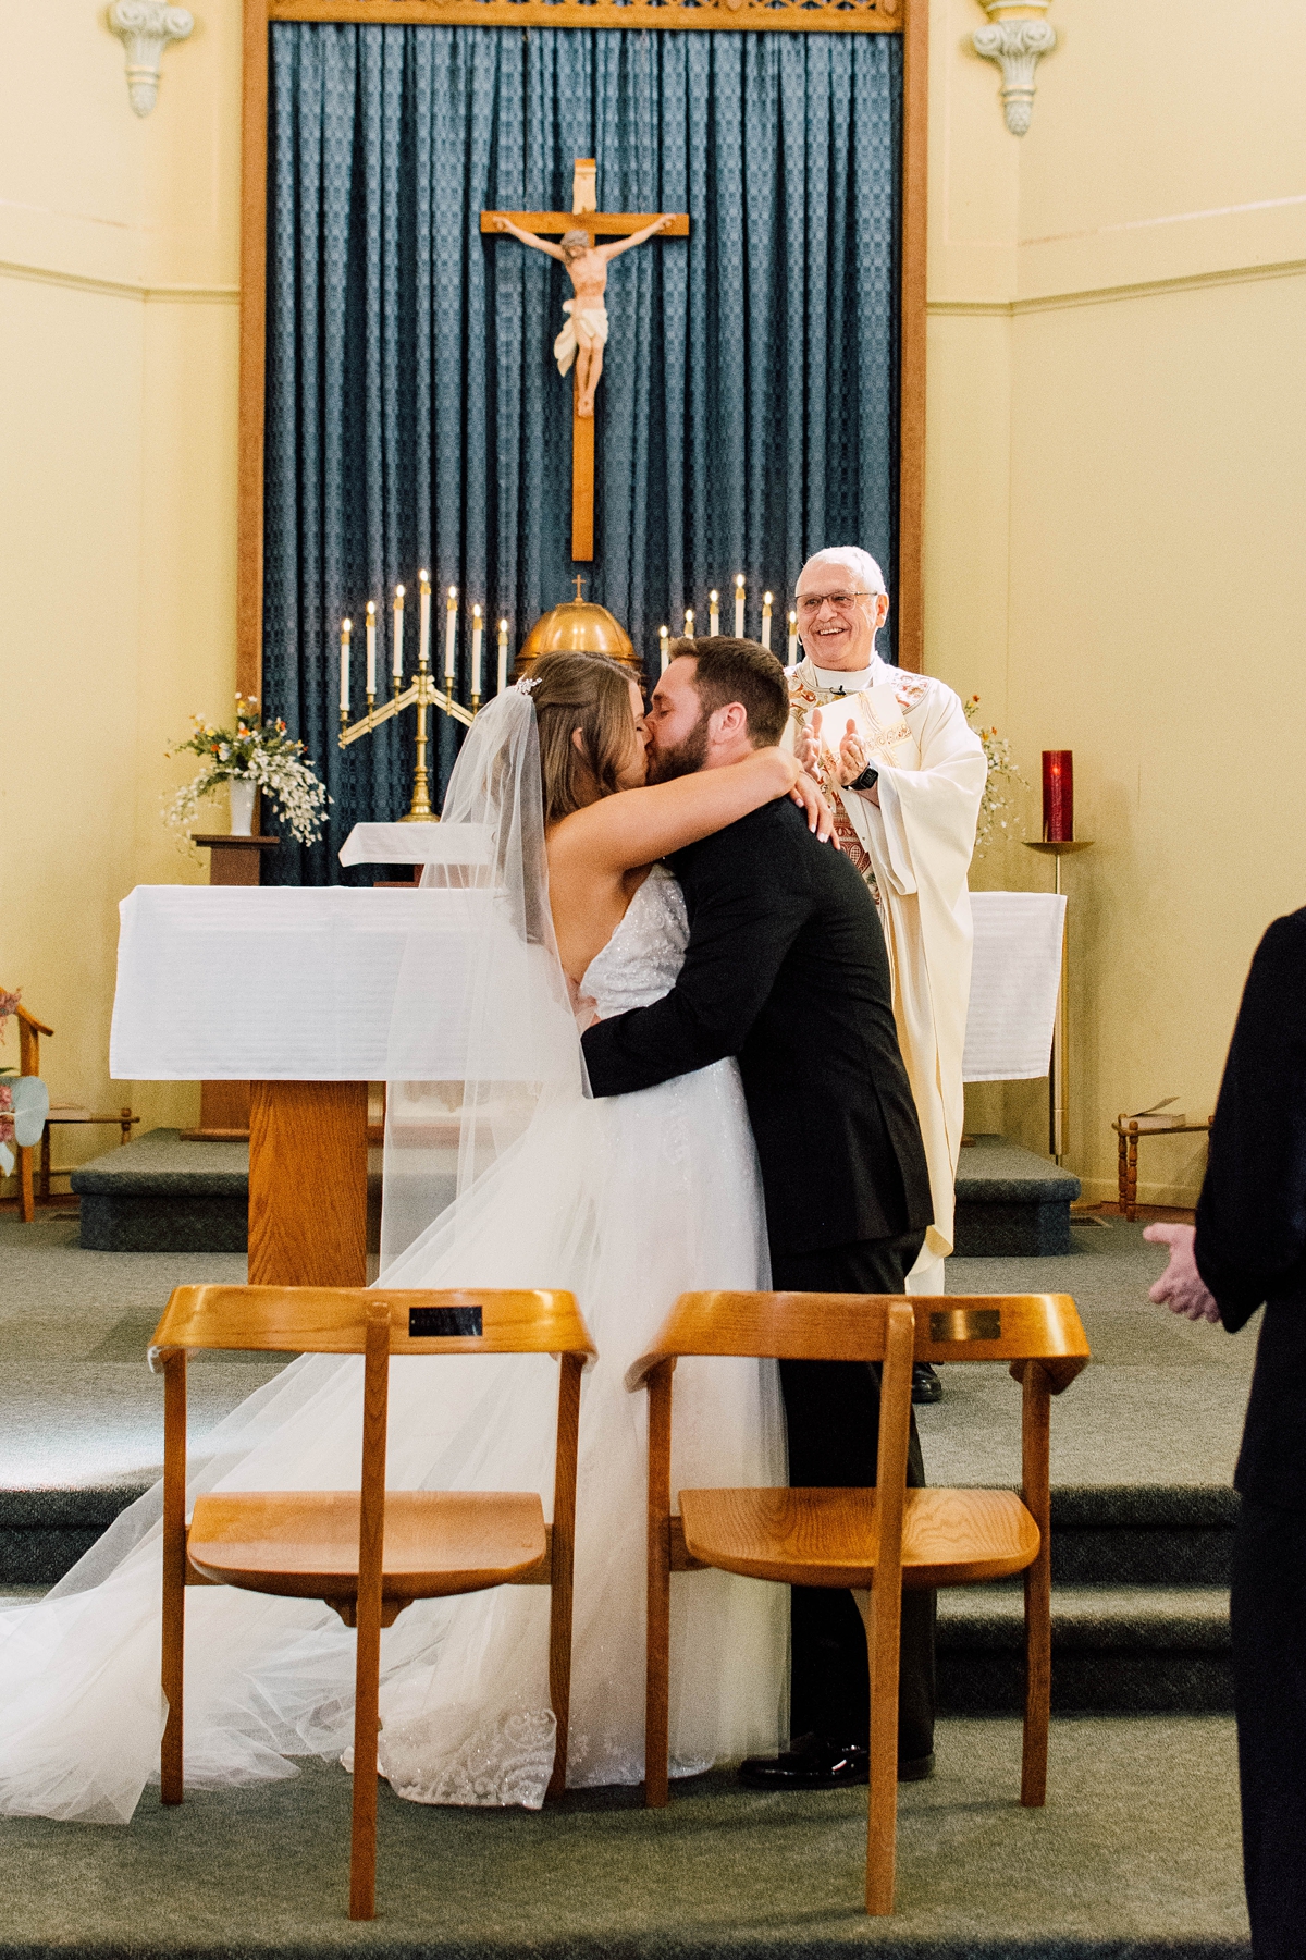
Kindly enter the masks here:
M 971 988 L 965 876 L 989 764 L 959 696 L 942 680 L 889 666 L 875 651 L 889 594 L 869 551 L 818 551 L 799 572 L 795 606 L 805 659 L 789 668 L 785 743 L 820 778 L 840 843 L 879 907 L 934 1201 L 907 1290 L 942 1294 Z M 918 1376 L 914 1399 L 936 1401 L 932 1370 Z

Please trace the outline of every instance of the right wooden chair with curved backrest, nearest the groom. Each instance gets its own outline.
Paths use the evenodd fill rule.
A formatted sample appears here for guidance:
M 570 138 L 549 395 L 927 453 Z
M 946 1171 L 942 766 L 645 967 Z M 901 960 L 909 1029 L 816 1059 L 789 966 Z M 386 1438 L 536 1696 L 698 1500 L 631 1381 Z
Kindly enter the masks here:
M 907 1319 L 912 1352 L 905 1356 Z M 881 1360 L 875 1490 L 681 1490 L 672 1513 L 672 1374 L 681 1354 Z M 905 1490 L 910 1360 L 1008 1362 L 1022 1382 L 1022 1492 Z M 1026 1711 L 1020 1801 L 1048 1784 L 1049 1396 L 1089 1360 L 1065 1294 L 875 1298 L 681 1294 L 627 1386 L 648 1388 L 648 1690 L 644 1801 L 668 1801 L 672 1572 L 719 1566 L 787 1586 L 848 1588 L 867 1629 L 871 1758 L 867 1913 L 893 1911 L 901 1588 L 967 1586 L 1024 1572 Z M 869 1595 L 867 1595 L 869 1593 Z

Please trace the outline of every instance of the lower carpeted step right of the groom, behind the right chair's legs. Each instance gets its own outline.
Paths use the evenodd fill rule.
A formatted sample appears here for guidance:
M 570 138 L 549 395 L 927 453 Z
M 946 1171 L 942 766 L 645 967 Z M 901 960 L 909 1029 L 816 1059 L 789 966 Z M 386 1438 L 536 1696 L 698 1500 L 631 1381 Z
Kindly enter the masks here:
M 1024 1701 L 1020 1582 L 938 1601 L 940 1707 Z M 1053 1586 L 1051 1705 L 1059 1715 L 1224 1715 L 1234 1707 L 1230 1597 L 1212 1586 Z

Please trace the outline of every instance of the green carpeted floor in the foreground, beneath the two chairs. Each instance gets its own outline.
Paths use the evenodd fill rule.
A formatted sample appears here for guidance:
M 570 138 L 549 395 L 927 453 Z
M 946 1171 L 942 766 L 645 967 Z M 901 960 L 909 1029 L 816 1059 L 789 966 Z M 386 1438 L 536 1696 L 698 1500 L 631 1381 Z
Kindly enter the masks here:
M 382 1786 L 378 1919 L 350 1925 L 349 1778 L 155 1791 L 127 1829 L 6 1821 L 0 1954 L 1243 1960 L 1234 1727 L 1053 1723 L 1049 1801 L 1016 1803 L 1020 1727 L 948 1721 L 899 1795 L 897 1911 L 862 1901 L 862 1791 L 770 1797 L 728 1776 L 578 1791 L 538 1815 L 419 1809 Z

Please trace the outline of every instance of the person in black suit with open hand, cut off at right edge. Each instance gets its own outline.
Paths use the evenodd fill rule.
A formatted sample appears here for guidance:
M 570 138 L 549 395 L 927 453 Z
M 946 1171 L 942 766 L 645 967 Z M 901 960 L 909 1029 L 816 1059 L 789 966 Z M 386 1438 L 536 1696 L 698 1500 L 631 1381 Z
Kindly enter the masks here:
M 1192 1225 L 1151 1298 L 1230 1333 L 1265 1305 L 1234 1537 L 1234 1705 L 1255 1960 L 1306 1954 L 1306 909 L 1247 974 Z

